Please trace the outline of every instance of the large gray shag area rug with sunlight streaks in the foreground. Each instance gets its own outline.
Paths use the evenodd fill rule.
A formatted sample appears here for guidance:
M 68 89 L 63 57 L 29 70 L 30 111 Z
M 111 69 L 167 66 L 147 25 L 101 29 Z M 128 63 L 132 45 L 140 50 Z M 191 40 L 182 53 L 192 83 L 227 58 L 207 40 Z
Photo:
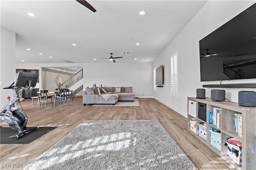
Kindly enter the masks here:
M 24 170 L 197 170 L 157 120 L 84 121 Z

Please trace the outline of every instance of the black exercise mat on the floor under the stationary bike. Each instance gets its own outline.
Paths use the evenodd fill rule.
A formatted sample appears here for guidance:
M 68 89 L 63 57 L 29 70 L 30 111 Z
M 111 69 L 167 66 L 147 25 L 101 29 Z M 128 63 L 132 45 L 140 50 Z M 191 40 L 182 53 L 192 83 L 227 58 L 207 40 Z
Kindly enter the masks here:
M 33 127 L 28 127 L 31 129 Z M 56 127 L 39 127 L 39 129 L 35 131 L 31 131 L 18 139 L 10 138 L 10 136 L 15 135 L 18 133 L 17 130 L 14 130 L 10 127 L 1 127 L 0 128 L 0 144 L 28 144 L 39 137 L 43 136 L 44 134 L 52 131 Z

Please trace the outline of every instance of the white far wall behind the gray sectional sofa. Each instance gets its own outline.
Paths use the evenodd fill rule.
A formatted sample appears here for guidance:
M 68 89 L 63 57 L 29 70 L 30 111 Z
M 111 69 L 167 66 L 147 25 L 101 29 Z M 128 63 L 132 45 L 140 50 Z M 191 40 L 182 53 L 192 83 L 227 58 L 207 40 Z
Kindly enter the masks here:
M 16 67 L 27 68 L 30 65 L 31 64 L 16 64 Z M 33 69 L 38 69 L 40 70 L 39 73 L 41 73 L 41 67 L 54 66 L 82 66 L 84 80 L 81 83 L 84 85 L 84 88 L 86 88 L 86 86 L 92 87 L 93 84 L 97 86 L 102 84 L 102 86 L 116 87 L 132 86 L 136 97 L 142 96 L 142 93 L 144 93 L 144 97 L 153 97 L 152 63 L 41 63 L 33 64 Z M 52 78 L 47 78 L 47 82 L 49 80 L 55 83 L 55 78 L 53 80 Z M 41 88 L 42 85 L 40 89 Z

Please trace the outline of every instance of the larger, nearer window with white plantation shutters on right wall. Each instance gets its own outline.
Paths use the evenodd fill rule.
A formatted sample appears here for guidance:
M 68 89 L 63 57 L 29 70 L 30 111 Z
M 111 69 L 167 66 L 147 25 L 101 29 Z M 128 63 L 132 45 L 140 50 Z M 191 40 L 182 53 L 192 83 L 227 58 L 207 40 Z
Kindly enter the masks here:
M 178 97 L 178 51 L 170 57 L 171 96 Z

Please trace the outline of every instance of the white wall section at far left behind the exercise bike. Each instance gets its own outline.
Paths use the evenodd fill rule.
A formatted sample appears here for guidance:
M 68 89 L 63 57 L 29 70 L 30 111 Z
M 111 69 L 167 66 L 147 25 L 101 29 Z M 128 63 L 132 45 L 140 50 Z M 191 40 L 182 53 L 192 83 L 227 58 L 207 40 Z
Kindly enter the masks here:
M 4 86 L 9 86 L 16 80 L 16 57 L 15 47 L 16 39 L 15 33 L 0 27 L 0 109 L 8 102 L 7 96 L 13 97 L 11 89 L 3 89 Z

